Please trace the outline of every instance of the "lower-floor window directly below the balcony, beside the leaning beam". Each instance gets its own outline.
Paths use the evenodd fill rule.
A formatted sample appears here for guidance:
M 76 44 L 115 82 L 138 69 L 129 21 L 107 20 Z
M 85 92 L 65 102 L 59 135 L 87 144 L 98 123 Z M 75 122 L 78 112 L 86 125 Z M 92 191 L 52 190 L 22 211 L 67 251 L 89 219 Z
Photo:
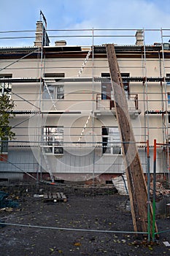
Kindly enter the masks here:
M 118 127 L 102 127 L 103 154 L 122 154 Z

